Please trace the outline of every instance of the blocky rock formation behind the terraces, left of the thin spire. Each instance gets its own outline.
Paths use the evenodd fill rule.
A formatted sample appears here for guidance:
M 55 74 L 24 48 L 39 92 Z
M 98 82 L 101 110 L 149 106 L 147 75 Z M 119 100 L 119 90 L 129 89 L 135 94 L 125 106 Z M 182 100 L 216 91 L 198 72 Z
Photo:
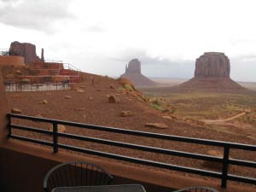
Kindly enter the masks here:
M 11 55 L 23 56 L 26 64 L 32 64 L 35 61 L 40 61 L 34 44 L 15 41 L 10 44 L 9 52 Z

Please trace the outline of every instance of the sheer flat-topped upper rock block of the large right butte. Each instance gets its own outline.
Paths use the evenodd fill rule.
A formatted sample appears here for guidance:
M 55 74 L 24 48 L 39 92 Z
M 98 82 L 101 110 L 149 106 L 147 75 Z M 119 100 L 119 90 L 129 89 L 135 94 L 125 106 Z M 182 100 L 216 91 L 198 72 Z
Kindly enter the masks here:
M 195 61 L 195 78 L 230 77 L 230 60 L 224 53 L 207 52 Z

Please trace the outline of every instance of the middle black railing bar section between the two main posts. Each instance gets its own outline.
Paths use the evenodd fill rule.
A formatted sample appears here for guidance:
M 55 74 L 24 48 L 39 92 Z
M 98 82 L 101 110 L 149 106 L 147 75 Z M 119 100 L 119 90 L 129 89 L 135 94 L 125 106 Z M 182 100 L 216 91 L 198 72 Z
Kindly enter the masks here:
M 67 134 L 67 133 L 58 133 L 58 136 L 72 138 L 72 139 L 78 139 L 80 141 L 102 143 L 102 144 L 112 145 L 112 146 L 121 147 L 121 148 L 133 148 L 133 149 L 137 149 L 137 150 L 143 150 L 143 151 L 154 152 L 154 153 L 159 153 L 159 154 L 172 154 L 172 155 L 176 155 L 176 156 L 180 156 L 180 157 L 187 157 L 187 158 L 196 159 L 196 160 L 211 160 L 211 161 L 215 161 L 215 162 L 222 162 L 222 158 L 213 157 L 213 156 L 204 155 L 204 154 L 182 152 L 182 151 L 170 150 L 170 149 L 166 149 L 166 148 L 154 148 L 154 147 L 131 144 L 131 143 L 113 142 L 110 140 L 100 139 L 100 138 L 96 138 L 96 137 L 84 137 L 84 136 L 78 136 L 78 135 Z

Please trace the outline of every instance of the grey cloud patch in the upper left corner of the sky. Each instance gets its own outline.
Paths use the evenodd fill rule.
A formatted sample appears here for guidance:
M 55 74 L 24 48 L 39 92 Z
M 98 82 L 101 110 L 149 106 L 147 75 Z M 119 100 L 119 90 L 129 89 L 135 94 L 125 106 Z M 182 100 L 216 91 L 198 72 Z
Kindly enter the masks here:
M 0 0 L 0 22 L 41 32 L 53 32 L 57 20 L 73 18 L 68 0 Z

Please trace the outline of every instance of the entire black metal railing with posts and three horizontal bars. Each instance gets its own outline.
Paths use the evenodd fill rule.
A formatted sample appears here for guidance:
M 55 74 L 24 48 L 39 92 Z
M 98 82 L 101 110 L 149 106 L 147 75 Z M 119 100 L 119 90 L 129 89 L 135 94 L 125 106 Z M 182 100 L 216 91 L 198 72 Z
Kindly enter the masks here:
M 154 166 L 154 167 L 165 168 L 169 170 L 175 170 L 179 172 L 189 172 L 189 173 L 194 173 L 194 174 L 207 176 L 207 177 L 220 178 L 222 188 L 226 188 L 228 180 L 241 182 L 241 183 L 256 184 L 256 178 L 230 174 L 228 169 L 230 165 L 247 166 L 251 168 L 256 168 L 255 161 L 237 160 L 237 159 L 230 158 L 231 148 L 256 152 L 256 145 L 228 143 L 228 142 L 221 142 L 221 141 L 214 141 L 214 140 L 207 140 L 207 139 L 200 139 L 200 138 L 193 138 L 193 137 L 178 137 L 178 136 L 158 134 L 153 132 L 125 130 L 125 129 L 119 129 L 119 128 L 113 128 L 113 127 L 98 126 L 98 125 L 87 125 L 87 124 L 75 123 L 70 121 L 38 118 L 38 117 L 32 117 L 32 116 L 26 116 L 21 114 L 14 114 L 14 113 L 8 113 L 7 118 L 9 120 L 9 123 L 8 123 L 9 138 L 19 139 L 19 140 L 30 142 L 30 143 L 38 143 L 42 145 L 51 146 L 53 148 L 54 153 L 58 152 L 58 148 L 65 148 L 65 149 L 76 151 L 76 152 L 81 152 L 85 154 L 94 154 L 102 157 L 112 158 L 115 160 L 125 160 L 128 162 L 137 163 L 137 164 L 146 165 L 146 166 Z M 12 123 L 13 118 L 50 123 L 53 126 L 53 131 L 46 131 L 43 129 L 28 127 L 24 125 L 15 125 Z M 133 143 L 121 143 L 121 142 L 116 142 L 116 141 L 106 140 L 106 139 L 101 139 L 96 137 L 79 136 L 79 135 L 74 135 L 70 133 L 59 132 L 58 125 L 69 125 L 69 126 L 74 126 L 74 127 L 84 128 L 84 129 L 90 129 L 90 130 L 96 130 L 96 131 L 108 131 L 108 132 L 120 133 L 120 134 L 125 134 L 130 136 L 149 137 L 149 138 L 157 138 L 157 139 L 163 139 L 163 140 L 169 140 L 169 141 L 176 141 L 181 143 L 195 143 L 195 144 L 207 145 L 212 147 L 221 147 L 221 148 L 224 148 L 224 154 L 223 154 L 223 157 L 215 157 L 212 155 L 189 153 L 184 151 L 171 150 L 167 148 L 154 148 L 154 147 L 138 145 Z M 13 129 L 43 133 L 43 134 L 52 136 L 52 142 L 14 135 L 12 133 Z M 101 144 L 106 144 L 106 145 L 111 145 L 111 146 L 121 147 L 121 148 L 137 149 L 141 151 L 153 152 L 158 154 L 168 154 L 168 155 L 195 159 L 195 160 L 208 160 L 211 162 L 218 162 L 222 164 L 222 172 L 212 172 L 212 171 L 203 170 L 203 169 L 196 169 L 189 166 L 177 166 L 177 165 L 166 164 L 166 163 L 154 161 L 154 160 L 144 160 L 144 159 L 134 158 L 131 156 L 112 154 L 112 153 L 102 152 L 99 150 L 92 150 L 89 148 L 79 148 L 76 146 L 59 143 L 58 141 L 59 137 L 77 139 L 79 141 L 87 141 L 91 143 L 101 143 Z

